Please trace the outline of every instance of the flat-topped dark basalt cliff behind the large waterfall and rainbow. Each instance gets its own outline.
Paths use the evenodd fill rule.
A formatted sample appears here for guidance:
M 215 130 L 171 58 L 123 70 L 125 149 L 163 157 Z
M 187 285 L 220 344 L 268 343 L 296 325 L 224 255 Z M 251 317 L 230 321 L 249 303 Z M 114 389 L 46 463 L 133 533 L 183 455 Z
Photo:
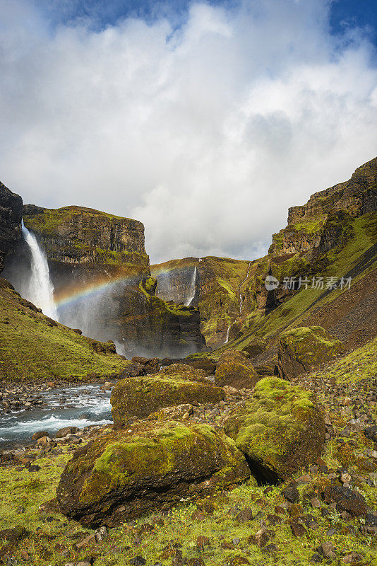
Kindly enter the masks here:
M 205 348 L 198 310 L 154 296 L 143 224 L 85 207 L 30 204 L 23 219 L 46 251 L 62 323 L 114 340 L 127 357 L 180 357 Z M 22 294 L 28 272 L 30 254 L 21 241 L 4 277 Z

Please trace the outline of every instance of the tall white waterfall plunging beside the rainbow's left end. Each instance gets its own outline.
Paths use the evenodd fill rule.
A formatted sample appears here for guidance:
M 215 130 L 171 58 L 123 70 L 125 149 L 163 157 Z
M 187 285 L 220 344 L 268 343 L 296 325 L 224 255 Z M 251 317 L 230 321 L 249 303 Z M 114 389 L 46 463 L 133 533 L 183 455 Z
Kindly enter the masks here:
M 40 248 L 37 238 L 25 228 L 22 223 L 23 238 L 28 244 L 31 253 L 31 274 L 25 299 L 32 302 L 42 313 L 54 320 L 58 319 L 54 302 L 54 285 L 49 277 L 49 265 L 44 251 Z

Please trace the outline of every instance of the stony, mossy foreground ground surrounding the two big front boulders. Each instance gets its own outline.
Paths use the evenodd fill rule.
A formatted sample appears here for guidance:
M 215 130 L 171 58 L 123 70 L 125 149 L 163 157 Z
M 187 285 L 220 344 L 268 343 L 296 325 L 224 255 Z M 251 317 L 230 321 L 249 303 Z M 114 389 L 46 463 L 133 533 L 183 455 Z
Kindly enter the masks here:
M 71 454 L 77 459 L 88 443 L 114 434 L 112 426 L 35 437 L 32 448 L 3 453 L 1 524 L 13 531 L 0 532 L 0 558 L 7 564 L 41 566 L 376 566 L 373 348 L 292 379 L 289 387 L 316 395 L 325 438 L 321 456 L 275 485 L 258 486 L 250 478 L 231 491 L 182 500 L 172 509 L 158 510 L 151 502 L 149 512 L 138 519 L 124 519 L 112 529 L 104 519 L 90 529 L 59 512 L 56 486 Z M 125 432 L 140 426 L 153 430 L 156 419 L 160 427 L 174 419 L 184 427 L 210 426 L 222 434 L 229 414 L 255 399 L 255 391 L 231 386 L 225 386 L 224 394 L 217 403 L 162 408 L 146 421 L 130 418 Z

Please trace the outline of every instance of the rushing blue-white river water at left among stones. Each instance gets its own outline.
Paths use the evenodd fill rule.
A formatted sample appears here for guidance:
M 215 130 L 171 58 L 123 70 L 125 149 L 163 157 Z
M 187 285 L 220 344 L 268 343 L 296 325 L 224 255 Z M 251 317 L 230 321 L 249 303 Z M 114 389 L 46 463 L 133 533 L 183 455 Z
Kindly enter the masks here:
M 14 410 L 0 417 L 0 449 L 30 441 L 39 430 L 51 436 L 63 427 L 88 427 L 112 422 L 110 391 L 100 384 L 59 388 L 42 393 L 45 406 Z

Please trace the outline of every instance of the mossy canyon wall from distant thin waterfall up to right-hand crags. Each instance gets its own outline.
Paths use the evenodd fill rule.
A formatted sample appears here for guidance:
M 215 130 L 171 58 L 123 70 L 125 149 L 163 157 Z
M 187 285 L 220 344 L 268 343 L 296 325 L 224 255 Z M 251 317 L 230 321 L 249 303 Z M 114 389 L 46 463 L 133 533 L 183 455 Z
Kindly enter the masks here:
M 157 295 L 185 301 L 190 274 L 197 267 L 196 304 L 207 344 L 220 347 L 240 339 L 261 317 L 299 291 L 297 286 L 283 285 L 285 278 L 315 277 L 330 265 L 334 258 L 328 253 L 354 237 L 355 219 L 376 210 L 376 183 L 374 158 L 345 183 L 316 192 L 306 204 L 289 208 L 287 227 L 273 234 L 263 258 L 251 262 L 184 258 L 152 265 Z M 277 289 L 266 289 L 268 275 L 279 280 Z

